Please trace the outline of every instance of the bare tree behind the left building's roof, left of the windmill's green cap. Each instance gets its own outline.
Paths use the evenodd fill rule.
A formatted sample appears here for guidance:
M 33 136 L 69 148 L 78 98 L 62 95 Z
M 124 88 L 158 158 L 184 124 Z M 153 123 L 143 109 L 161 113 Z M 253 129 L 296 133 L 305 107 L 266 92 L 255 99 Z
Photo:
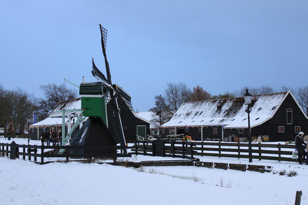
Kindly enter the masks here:
M 59 102 L 74 99 L 78 94 L 77 90 L 67 88 L 65 84 L 48 83 L 40 85 L 40 90 L 44 92 L 44 97 L 37 101 L 39 107 L 37 114 L 40 120 L 46 118 Z

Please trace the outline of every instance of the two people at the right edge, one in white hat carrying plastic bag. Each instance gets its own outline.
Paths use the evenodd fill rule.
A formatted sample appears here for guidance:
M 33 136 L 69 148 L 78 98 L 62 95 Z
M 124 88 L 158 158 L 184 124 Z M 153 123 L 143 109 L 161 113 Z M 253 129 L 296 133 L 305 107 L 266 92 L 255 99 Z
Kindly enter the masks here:
M 304 136 L 304 132 L 298 133 L 298 135 L 295 137 L 295 151 L 297 151 L 298 156 L 298 162 L 299 164 L 303 164 L 302 162 L 306 162 L 306 165 L 308 165 L 308 143 L 305 143 L 305 141 L 308 140 L 308 130 L 306 130 L 306 136 Z M 303 145 L 306 145 L 306 152 L 305 147 Z M 305 159 L 306 156 L 306 159 Z M 303 160 L 303 161 L 302 161 Z

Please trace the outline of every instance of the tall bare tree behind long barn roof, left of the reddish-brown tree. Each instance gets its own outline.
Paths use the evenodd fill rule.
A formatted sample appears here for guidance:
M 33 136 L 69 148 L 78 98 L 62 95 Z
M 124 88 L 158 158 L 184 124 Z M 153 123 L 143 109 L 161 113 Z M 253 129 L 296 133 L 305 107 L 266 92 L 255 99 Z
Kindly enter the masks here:
M 189 102 L 191 90 L 185 83 L 168 82 L 164 91 L 166 104 L 170 111 L 176 112 L 182 103 Z

